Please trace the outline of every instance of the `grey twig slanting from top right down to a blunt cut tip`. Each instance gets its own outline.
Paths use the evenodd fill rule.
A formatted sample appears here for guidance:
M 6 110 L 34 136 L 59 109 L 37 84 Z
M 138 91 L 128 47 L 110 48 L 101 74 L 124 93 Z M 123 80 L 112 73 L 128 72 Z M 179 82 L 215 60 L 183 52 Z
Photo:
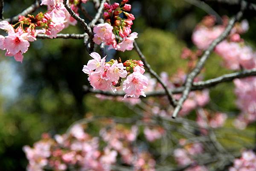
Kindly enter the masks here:
M 175 107 L 175 110 L 172 114 L 173 118 L 175 118 L 177 116 L 177 114 L 179 113 L 179 111 L 181 110 L 183 102 L 187 99 L 187 97 L 189 95 L 189 92 L 191 90 L 192 83 L 193 83 L 195 77 L 201 72 L 202 68 L 204 67 L 205 62 L 209 58 L 209 56 L 210 56 L 211 52 L 213 51 L 213 49 L 215 48 L 215 46 L 217 46 L 218 43 L 220 43 L 225 38 L 227 38 L 227 36 L 229 35 L 229 33 L 230 33 L 231 29 L 233 28 L 234 24 L 236 23 L 236 21 L 242 17 L 243 11 L 245 9 L 245 4 L 242 3 L 241 5 L 242 5 L 241 10 L 236 14 L 235 17 L 232 17 L 230 19 L 224 32 L 210 44 L 210 46 L 208 47 L 208 49 L 206 51 L 204 51 L 204 54 L 198 61 L 196 67 L 187 76 L 186 83 L 185 83 L 185 90 L 183 91 L 182 96 L 179 99 L 177 106 Z

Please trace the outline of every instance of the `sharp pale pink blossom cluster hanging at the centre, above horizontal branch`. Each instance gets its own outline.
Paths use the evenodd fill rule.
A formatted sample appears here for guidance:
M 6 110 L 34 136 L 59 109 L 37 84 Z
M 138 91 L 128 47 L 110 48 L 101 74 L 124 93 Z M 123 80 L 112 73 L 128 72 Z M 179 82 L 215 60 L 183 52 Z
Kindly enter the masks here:
M 101 56 L 93 52 L 90 54 L 93 58 L 84 65 L 83 72 L 88 74 L 88 81 L 95 90 L 112 90 L 121 85 L 122 78 L 126 78 L 122 84 L 125 91 L 124 99 L 128 96 L 139 98 L 146 96 L 144 89 L 147 88 L 148 78 L 143 75 L 145 72 L 142 61 L 128 60 L 122 63 L 121 59 L 106 62 L 106 56 Z

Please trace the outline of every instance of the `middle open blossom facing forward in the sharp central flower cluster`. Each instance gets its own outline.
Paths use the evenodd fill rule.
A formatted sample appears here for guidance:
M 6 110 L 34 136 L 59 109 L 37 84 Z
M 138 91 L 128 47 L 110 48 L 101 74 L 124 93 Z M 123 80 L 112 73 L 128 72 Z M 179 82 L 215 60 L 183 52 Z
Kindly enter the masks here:
M 117 82 L 119 77 L 125 78 L 127 75 L 127 71 L 125 70 L 126 67 L 122 63 L 117 63 L 115 61 L 114 64 L 108 69 L 107 77 L 111 79 L 111 81 Z

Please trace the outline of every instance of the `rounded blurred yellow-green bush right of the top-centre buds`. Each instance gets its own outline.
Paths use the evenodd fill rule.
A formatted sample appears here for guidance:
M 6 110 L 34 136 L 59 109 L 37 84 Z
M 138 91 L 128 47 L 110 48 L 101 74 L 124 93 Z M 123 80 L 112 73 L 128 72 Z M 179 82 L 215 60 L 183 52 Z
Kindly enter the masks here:
M 172 75 L 178 68 L 186 65 L 186 61 L 180 58 L 185 44 L 171 32 L 148 28 L 137 38 L 137 43 L 148 63 L 157 73 L 164 71 Z M 119 53 L 119 55 L 126 59 L 139 59 L 135 51 Z

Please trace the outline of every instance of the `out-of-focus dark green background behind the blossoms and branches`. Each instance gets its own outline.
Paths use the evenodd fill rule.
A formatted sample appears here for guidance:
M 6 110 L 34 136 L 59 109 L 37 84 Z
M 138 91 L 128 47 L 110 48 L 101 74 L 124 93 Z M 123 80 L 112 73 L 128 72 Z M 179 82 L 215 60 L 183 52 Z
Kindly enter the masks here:
M 5 0 L 3 16 L 14 16 L 33 2 Z M 192 31 L 208 14 L 198 7 L 198 2 L 130 0 L 132 13 L 136 17 L 132 31 L 139 33 L 137 42 L 158 73 L 165 71 L 172 75 L 178 68 L 186 66 L 186 61 L 180 58 L 181 51 L 186 46 L 195 49 L 191 41 Z M 239 10 L 236 5 L 214 1 L 208 4 L 220 16 L 230 17 Z M 91 15 L 95 14 L 90 1 L 84 6 Z M 45 10 L 41 7 L 37 11 Z M 252 12 L 245 14 L 250 29 L 242 38 L 255 47 L 256 18 L 251 16 L 255 15 Z M 83 30 L 78 24 L 62 33 L 83 33 Z M 108 59 L 138 59 L 133 51 L 107 51 L 107 54 Z M 83 40 L 38 39 L 30 44 L 22 64 L 0 52 L 0 171 L 26 170 L 27 160 L 22 151 L 24 145 L 32 145 L 44 132 L 52 135 L 64 133 L 69 125 L 88 113 L 121 117 L 133 114 L 122 103 L 100 101 L 92 94 L 84 93 L 83 85 L 89 86 L 89 83 L 82 68 L 89 59 Z M 229 72 L 221 66 L 221 58 L 213 54 L 207 63 L 204 78 Z M 233 83 L 212 88 L 210 97 L 208 107 L 228 113 L 227 126 L 232 125 L 232 117 L 239 114 Z M 250 125 L 247 129 L 253 130 L 253 127 L 255 125 Z

